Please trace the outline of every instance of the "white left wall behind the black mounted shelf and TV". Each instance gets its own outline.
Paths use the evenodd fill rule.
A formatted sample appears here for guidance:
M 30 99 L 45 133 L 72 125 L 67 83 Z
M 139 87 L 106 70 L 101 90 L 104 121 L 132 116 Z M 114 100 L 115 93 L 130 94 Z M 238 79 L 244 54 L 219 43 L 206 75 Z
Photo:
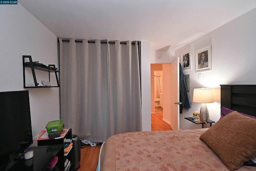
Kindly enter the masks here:
M 31 55 L 33 61 L 58 66 L 57 37 L 20 4 L 1 5 L 0 16 L 0 91 L 25 90 L 22 55 Z M 36 74 L 38 82 L 48 79 L 47 72 Z M 59 88 L 27 90 L 35 136 L 45 129 L 48 121 L 60 118 Z

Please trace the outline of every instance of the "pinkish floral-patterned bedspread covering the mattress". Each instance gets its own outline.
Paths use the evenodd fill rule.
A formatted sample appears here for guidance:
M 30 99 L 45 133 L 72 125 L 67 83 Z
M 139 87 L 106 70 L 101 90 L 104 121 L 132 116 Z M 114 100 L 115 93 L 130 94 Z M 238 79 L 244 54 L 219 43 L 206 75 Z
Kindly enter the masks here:
M 199 139 L 206 129 L 114 135 L 103 145 L 100 171 L 228 171 Z M 242 166 L 239 171 L 256 167 Z

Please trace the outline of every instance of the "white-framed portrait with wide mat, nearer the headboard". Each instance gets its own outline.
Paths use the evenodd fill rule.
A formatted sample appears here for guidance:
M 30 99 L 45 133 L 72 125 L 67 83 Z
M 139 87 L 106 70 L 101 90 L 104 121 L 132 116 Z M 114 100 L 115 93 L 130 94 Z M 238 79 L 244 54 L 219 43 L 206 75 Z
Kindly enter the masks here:
M 196 72 L 212 70 L 212 48 L 206 46 L 196 51 Z

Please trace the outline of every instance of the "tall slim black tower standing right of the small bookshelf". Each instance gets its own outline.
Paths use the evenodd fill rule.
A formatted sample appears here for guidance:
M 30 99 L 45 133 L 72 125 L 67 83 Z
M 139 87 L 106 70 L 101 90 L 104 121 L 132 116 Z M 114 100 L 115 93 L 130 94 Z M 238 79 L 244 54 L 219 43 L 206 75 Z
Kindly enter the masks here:
M 73 171 L 77 171 L 80 168 L 81 149 L 80 139 L 78 135 L 72 134 L 73 142 Z

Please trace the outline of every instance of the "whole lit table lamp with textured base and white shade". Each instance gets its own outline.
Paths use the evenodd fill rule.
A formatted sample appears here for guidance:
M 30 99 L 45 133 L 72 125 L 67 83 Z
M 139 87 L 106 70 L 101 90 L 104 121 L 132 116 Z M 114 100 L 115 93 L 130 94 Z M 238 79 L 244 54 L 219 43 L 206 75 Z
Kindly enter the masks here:
M 203 103 L 200 108 L 200 120 L 202 122 L 209 121 L 209 111 L 205 103 L 213 103 L 213 92 L 211 88 L 195 88 L 193 92 L 193 102 Z

